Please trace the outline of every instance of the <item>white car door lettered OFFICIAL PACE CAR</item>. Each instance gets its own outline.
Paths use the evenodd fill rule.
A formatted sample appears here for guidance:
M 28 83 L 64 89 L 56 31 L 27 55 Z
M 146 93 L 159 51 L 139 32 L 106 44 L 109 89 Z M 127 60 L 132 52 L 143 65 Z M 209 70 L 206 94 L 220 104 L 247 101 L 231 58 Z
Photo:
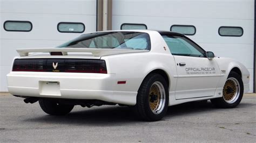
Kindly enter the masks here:
M 185 66 L 176 66 L 178 73 L 176 99 L 215 95 L 215 89 L 221 77 L 219 66 L 214 59 L 177 55 L 174 55 L 174 59 L 176 63 L 186 64 Z

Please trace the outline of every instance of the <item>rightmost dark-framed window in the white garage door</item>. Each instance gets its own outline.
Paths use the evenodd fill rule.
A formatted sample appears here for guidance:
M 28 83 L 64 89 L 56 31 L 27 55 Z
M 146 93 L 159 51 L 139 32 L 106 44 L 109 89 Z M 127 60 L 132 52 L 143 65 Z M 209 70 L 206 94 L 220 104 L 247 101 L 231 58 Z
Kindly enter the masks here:
M 241 37 L 244 33 L 242 27 L 231 27 L 231 26 L 221 26 L 219 27 L 219 35 L 230 36 L 230 37 Z

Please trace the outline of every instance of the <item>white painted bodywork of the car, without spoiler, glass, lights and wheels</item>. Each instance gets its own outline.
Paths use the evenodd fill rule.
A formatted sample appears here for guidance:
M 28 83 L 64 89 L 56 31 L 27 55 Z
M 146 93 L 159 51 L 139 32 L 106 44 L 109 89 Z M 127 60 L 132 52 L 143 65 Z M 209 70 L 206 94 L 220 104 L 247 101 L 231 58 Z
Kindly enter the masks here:
M 186 77 L 179 77 L 179 75 L 182 75 L 184 72 L 176 69 L 177 66 L 176 61 L 174 61 L 174 56 L 171 55 L 169 48 L 166 50 L 163 48 L 164 46 L 167 47 L 167 45 L 161 35 L 156 31 L 138 30 L 138 32 L 147 32 L 150 35 L 151 51 L 102 56 L 101 59 L 106 61 L 107 74 L 11 71 L 8 74 L 9 91 L 14 95 L 55 98 L 55 95 L 40 95 L 38 82 L 59 82 L 60 96 L 58 94 L 58 98 L 100 99 L 107 102 L 134 105 L 136 104 L 137 91 L 143 79 L 152 70 L 161 69 L 164 70 L 169 77 L 169 91 L 171 93 L 169 96 L 169 105 L 174 105 L 188 101 L 221 97 L 218 93 L 222 91 L 228 73 L 230 73 L 230 70 L 234 67 L 241 70 L 244 84 L 247 86 L 249 83 L 247 79 L 249 71 L 246 67 L 240 62 L 228 58 L 215 58 L 213 61 L 209 61 L 214 63 L 216 61 L 220 69 L 226 70 L 226 73 L 220 76 L 217 76 L 220 73 L 215 69 L 216 73 L 218 72 L 216 76 L 197 76 L 191 77 L 191 80 L 186 80 Z M 113 50 L 113 53 L 114 52 Z M 41 57 L 35 56 L 35 58 L 42 57 L 60 58 L 60 56 L 50 55 Z M 22 58 L 31 58 L 31 56 L 23 56 Z M 62 58 L 71 57 L 64 55 Z M 80 56 L 77 58 L 80 58 Z M 206 63 L 206 60 L 208 60 L 206 58 L 198 58 L 198 60 L 180 58 L 178 60 L 184 60 L 183 62 L 190 63 L 188 66 L 211 66 L 211 63 Z M 216 77 L 218 77 L 218 79 Z M 192 78 L 196 78 L 196 80 L 192 80 Z M 183 79 L 185 79 L 185 81 Z M 126 84 L 118 85 L 118 81 L 126 81 Z M 183 86 L 185 86 L 185 88 L 187 87 L 187 89 Z M 173 94 L 176 90 L 180 95 L 188 98 L 198 97 L 198 95 L 203 94 L 211 97 L 176 100 Z M 216 92 L 214 93 L 214 91 Z M 247 88 L 245 92 L 247 92 Z

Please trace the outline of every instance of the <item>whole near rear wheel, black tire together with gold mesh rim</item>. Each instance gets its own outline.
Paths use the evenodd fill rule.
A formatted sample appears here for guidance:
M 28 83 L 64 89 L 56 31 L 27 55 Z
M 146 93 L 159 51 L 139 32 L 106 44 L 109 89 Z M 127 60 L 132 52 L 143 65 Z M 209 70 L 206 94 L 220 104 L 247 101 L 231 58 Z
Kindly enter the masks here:
M 156 121 L 164 117 L 168 103 L 169 90 L 165 78 L 150 74 L 140 85 L 134 110 L 140 119 Z

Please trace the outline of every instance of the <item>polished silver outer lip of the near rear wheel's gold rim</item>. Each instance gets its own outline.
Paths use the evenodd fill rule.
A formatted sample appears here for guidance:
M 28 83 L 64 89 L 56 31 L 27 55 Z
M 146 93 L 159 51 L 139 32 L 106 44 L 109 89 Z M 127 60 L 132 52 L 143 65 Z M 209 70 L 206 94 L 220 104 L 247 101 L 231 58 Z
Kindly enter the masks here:
M 161 113 L 164 108 L 165 108 L 165 102 L 166 102 L 166 94 L 165 94 L 165 88 L 164 88 L 164 85 L 159 82 L 159 81 L 156 81 L 154 82 L 152 85 L 151 85 L 151 88 L 153 85 L 156 85 L 157 88 L 159 89 L 160 91 L 160 103 L 158 105 L 158 107 L 154 110 L 152 110 L 150 108 L 150 110 L 155 114 L 155 115 L 158 115 L 159 113 Z M 150 101 L 149 101 L 149 104 L 150 104 Z

